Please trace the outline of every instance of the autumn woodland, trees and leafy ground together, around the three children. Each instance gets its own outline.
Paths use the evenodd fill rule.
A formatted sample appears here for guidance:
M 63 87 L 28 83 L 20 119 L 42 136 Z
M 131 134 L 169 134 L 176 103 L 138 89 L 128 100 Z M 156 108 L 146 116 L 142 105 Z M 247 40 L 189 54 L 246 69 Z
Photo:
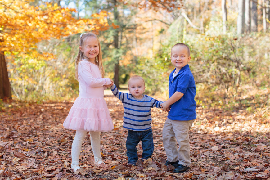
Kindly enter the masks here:
M 269 0 L 0 0 L 0 178 L 269 180 L 269 10 Z M 108 90 L 115 123 L 102 134 L 108 167 L 94 166 L 87 139 L 85 168 L 71 173 L 74 132 L 62 123 L 79 93 L 79 34 L 89 31 L 101 41 L 106 77 L 124 91 L 141 75 L 146 94 L 163 101 L 170 49 L 190 47 L 198 114 L 191 171 L 164 167 L 166 114 L 158 109 L 152 161 L 126 166 L 122 105 Z

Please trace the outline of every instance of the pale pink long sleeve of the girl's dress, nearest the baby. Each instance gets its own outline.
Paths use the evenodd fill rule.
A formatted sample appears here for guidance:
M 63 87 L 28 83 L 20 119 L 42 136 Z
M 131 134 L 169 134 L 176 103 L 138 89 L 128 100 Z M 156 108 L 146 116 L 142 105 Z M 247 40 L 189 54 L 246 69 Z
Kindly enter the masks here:
M 88 62 L 81 61 L 78 65 L 79 78 L 83 79 L 85 83 L 90 87 L 101 87 L 110 84 L 109 78 L 94 78 Z

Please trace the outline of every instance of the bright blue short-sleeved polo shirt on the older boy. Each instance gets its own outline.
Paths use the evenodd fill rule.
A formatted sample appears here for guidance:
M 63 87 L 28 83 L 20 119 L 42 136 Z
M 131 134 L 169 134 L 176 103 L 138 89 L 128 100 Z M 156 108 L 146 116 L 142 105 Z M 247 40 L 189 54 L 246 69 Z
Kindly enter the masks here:
M 196 115 L 196 86 L 189 65 L 182 67 L 178 74 L 173 78 L 173 73 L 169 76 L 169 97 L 175 92 L 182 92 L 184 95 L 181 99 L 171 105 L 168 118 L 171 120 L 185 121 L 197 118 Z

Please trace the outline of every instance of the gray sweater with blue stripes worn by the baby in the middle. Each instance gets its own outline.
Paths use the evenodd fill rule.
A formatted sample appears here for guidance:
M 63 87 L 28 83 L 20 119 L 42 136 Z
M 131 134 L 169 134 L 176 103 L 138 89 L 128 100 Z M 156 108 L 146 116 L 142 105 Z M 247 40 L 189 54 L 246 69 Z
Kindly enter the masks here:
M 158 101 L 150 96 L 143 95 L 142 99 L 137 99 L 129 93 L 119 92 L 115 84 L 111 91 L 124 106 L 124 123 L 123 127 L 133 131 L 145 131 L 151 129 L 152 118 L 151 108 L 161 108 L 163 101 Z

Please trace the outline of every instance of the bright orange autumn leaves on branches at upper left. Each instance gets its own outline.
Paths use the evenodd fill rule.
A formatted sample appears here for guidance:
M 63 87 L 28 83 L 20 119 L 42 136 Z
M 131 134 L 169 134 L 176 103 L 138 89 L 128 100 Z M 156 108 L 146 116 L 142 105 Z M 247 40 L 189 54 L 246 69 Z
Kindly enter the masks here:
M 72 16 L 75 9 L 49 3 L 34 7 L 29 2 L 0 0 L 0 52 L 19 52 L 19 56 L 37 58 L 40 41 L 109 27 L 105 11 L 92 15 L 91 19 L 82 19 Z M 43 55 L 43 59 L 52 57 Z

